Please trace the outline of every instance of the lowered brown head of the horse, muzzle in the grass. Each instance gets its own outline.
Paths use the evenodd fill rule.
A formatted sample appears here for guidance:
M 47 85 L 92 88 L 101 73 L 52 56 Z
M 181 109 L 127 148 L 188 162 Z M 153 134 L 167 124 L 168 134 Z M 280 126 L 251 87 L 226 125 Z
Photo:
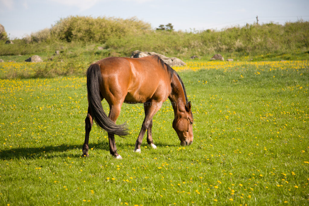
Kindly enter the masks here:
M 178 112 L 173 121 L 180 145 L 191 145 L 193 142 L 193 116 L 191 111 L 191 102 L 185 105 L 185 112 Z

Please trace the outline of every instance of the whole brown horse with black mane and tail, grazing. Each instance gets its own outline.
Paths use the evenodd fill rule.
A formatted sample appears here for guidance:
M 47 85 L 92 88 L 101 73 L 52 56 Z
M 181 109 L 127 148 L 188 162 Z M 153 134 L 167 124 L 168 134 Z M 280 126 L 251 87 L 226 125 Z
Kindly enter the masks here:
M 88 155 L 89 133 L 93 120 L 108 132 L 109 151 L 117 159 L 114 135 L 128 134 L 125 124 L 116 125 L 122 103 L 143 103 L 145 119 L 135 143 L 134 152 L 141 152 L 141 144 L 147 130 L 147 143 L 156 148 L 152 141 L 152 118 L 169 98 L 174 109 L 175 129 L 180 145 L 193 142 L 193 115 L 184 84 L 179 75 L 158 56 L 143 58 L 108 57 L 87 69 L 88 114 L 85 119 L 85 143 L 83 157 Z M 101 101 L 109 104 L 109 115 L 103 111 Z

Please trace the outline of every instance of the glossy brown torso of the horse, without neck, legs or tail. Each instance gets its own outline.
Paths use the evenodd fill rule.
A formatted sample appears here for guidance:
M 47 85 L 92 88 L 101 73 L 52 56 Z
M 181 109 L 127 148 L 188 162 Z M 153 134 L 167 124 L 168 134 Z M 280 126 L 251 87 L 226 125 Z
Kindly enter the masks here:
M 97 63 L 104 98 L 113 95 L 126 103 L 144 103 L 150 99 L 165 100 L 170 93 L 170 75 L 155 56 L 107 57 Z

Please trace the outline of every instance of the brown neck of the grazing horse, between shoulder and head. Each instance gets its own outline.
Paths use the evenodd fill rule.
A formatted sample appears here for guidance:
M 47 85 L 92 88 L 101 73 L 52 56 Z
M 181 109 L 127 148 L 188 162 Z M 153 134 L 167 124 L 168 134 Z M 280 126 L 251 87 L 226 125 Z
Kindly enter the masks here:
M 168 96 L 172 103 L 174 113 L 185 111 L 186 99 L 184 96 L 184 89 L 176 75 L 173 75 L 171 82 L 171 94 Z

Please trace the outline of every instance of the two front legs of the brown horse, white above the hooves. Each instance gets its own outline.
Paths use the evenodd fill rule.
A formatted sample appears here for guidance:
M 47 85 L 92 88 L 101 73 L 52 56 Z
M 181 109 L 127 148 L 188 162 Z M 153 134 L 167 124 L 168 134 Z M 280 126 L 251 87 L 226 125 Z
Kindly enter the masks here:
M 145 103 L 145 104 L 147 104 L 147 105 L 144 105 L 145 119 L 142 124 L 142 129 L 139 132 L 138 138 L 135 142 L 134 152 L 141 152 L 141 144 L 142 144 L 143 137 L 147 129 L 149 129 L 147 132 L 147 143 L 152 148 L 156 148 L 156 146 L 152 143 L 152 135 L 151 135 L 152 118 L 155 115 L 155 113 L 157 113 L 157 111 L 159 111 L 159 109 L 162 107 L 162 102 L 150 102 L 150 103 Z

